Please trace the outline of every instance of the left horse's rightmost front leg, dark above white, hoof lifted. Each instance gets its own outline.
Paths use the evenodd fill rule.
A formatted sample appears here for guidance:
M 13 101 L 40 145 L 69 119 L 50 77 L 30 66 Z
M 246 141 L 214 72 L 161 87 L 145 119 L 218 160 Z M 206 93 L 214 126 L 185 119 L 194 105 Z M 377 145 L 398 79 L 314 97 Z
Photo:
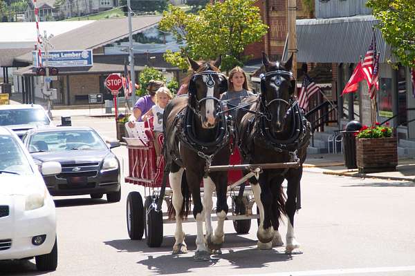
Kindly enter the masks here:
M 216 184 L 216 217 L 218 218 L 218 224 L 214 233 L 208 235 L 208 247 L 212 250 L 218 250 L 218 253 L 221 253 L 220 249 L 223 242 L 225 241 L 225 233 L 223 232 L 223 224 L 226 219 L 226 214 L 228 214 L 228 204 L 226 202 L 226 190 L 227 186 L 227 177 L 228 172 L 216 172 L 214 175 L 214 183 Z M 210 179 L 212 181 L 212 179 Z

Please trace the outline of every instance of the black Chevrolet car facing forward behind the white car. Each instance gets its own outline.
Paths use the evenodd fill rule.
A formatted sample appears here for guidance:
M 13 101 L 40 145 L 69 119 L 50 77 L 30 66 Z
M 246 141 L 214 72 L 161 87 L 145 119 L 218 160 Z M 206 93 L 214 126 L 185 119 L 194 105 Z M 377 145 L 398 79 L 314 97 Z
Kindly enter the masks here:
M 91 195 L 120 201 L 120 161 L 92 128 L 62 126 L 28 130 L 23 138 L 36 164 L 58 161 L 62 172 L 44 177 L 50 195 Z

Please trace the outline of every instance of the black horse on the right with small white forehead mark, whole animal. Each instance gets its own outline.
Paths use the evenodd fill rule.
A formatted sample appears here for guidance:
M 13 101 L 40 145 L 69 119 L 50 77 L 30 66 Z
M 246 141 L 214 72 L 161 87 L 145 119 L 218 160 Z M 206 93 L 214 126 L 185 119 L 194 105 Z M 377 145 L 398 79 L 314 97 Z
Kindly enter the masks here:
M 271 62 L 263 53 L 265 74 L 261 77 L 261 93 L 243 101 L 255 103 L 248 113 L 239 110 L 236 119 L 245 164 L 299 162 L 298 168 L 268 169 L 259 175 L 259 179 L 250 179 L 261 217 L 258 248 L 283 245 L 278 232 L 283 213 L 288 217 L 287 253 L 299 248 L 294 234 L 294 215 L 300 207 L 297 195 L 310 139 L 310 124 L 294 97 L 292 62 L 292 56 L 285 63 Z M 288 182 L 287 198 L 282 190 L 284 179 Z

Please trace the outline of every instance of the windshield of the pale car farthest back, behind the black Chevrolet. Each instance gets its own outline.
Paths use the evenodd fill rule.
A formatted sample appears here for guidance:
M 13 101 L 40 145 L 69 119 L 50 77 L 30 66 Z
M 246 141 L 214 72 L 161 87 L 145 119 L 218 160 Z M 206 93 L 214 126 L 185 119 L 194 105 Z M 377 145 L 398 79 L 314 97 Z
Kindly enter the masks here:
M 0 110 L 0 126 L 50 124 L 44 110 L 40 108 Z

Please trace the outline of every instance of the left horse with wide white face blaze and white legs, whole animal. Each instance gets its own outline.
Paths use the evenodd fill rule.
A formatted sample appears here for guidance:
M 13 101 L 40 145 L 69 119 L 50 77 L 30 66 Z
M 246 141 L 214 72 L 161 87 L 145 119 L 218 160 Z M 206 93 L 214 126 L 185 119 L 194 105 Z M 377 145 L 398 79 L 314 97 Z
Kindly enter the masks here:
M 226 77 L 218 70 L 221 57 L 214 63 L 199 64 L 190 58 L 188 60 L 195 73 L 189 84 L 188 95 L 172 99 L 165 108 L 163 154 L 169 166 L 169 182 L 173 190 L 174 210 L 170 208 L 169 213 L 171 217 L 173 213 L 176 214 L 173 253 L 187 253 L 182 220 L 189 210 L 190 190 L 197 225 L 194 259 L 199 261 L 210 259 L 208 248 L 220 250 L 224 241 L 223 223 L 228 213 L 228 172 L 207 173 L 206 170 L 210 165 L 229 164 L 229 133 L 219 100 L 221 92 L 227 90 L 228 85 Z M 203 204 L 200 188 L 202 179 Z M 213 232 L 210 217 L 215 189 L 218 226 Z M 203 220 L 206 224 L 206 240 L 203 237 Z

